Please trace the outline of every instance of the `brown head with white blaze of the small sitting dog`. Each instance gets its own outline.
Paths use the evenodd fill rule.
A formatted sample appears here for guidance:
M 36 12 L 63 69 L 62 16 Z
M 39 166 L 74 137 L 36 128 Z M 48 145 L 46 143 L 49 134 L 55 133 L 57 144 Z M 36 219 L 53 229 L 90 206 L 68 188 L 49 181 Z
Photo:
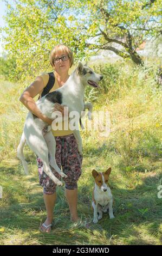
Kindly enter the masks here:
M 92 176 L 95 179 L 96 185 L 100 188 L 101 191 L 106 192 L 108 189 L 108 178 L 111 174 L 112 168 L 108 168 L 106 172 L 99 173 L 96 170 L 92 171 Z

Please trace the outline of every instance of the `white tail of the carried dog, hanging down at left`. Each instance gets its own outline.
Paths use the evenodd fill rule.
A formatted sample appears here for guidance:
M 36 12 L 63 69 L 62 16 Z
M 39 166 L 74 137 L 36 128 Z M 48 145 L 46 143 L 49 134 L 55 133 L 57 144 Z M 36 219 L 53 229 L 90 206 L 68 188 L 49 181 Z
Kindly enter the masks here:
M 25 139 L 25 135 L 24 135 L 24 132 L 23 132 L 23 134 L 21 136 L 20 144 L 18 145 L 18 148 L 17 148 L 17 157 L 22 161 L 22 164 L 23 164 L 23 167 L 24 167 L 24 172 L 25 172 L 26 175 L 28 175 L 29 174 L 28 164 L 25 161 L 24 152 L 23 152 L 25 142 L 26 142 L 26 139 Z

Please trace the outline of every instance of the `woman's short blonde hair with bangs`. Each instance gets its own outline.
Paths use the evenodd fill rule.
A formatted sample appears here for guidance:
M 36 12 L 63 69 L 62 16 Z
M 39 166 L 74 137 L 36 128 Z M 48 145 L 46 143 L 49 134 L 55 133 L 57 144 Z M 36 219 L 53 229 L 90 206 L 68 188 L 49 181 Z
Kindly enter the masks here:
M 71 66 L 74 64 L 74 56 L 73 56 L 73 52 L 70 50 L 70 48 L 66 45 L 56 45 L 53 50 L 51 50 L 50 52 L 50 56 L 49 56 L 49 60 L 50 60 L 50 64 L 53 68 L 55 68 L 54 65 L 54 58 L 56 56 L 57 52 L 64 52 L 66 54 L 68 54 L 69 58 L 70 58 L 70 68 Z

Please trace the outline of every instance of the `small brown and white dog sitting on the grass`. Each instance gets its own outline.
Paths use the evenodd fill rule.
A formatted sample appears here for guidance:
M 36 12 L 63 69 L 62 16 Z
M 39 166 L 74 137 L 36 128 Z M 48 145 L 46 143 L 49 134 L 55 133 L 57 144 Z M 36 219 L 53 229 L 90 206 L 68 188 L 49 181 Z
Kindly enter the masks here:
M 102 218 L 103 212 L 109 209 L 109 218 L 114 218 L 113 215 L 113 196 L 107 182 L 112 168 L 108 168 L 106 172 L 99 173 L 96 170 L 92 171 L 95 179 L 95 187 L 92 196 L 92 206 L 94 209 L 93 223 L 97 223 Z M 98 216 L 99 213 L 99 216 Z

